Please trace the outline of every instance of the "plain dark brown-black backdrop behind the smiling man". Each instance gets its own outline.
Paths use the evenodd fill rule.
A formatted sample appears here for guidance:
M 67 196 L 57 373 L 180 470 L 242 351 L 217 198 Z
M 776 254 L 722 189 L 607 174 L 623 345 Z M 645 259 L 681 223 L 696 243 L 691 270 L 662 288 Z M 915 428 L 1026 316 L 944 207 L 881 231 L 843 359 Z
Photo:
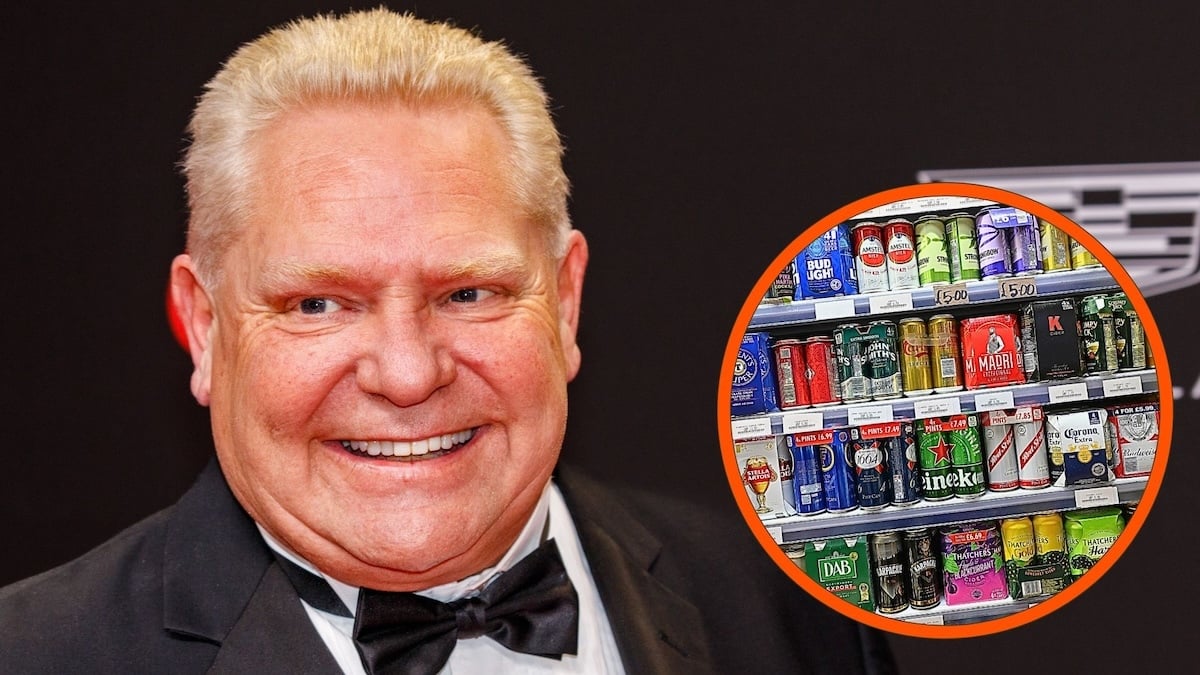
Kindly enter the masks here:
M 0 584 L 169 504 L 204 464 L 206 416 L 163 313 L 182 247 L 182 130 L 238 44 L 348 7 L 11 5 Z M 554 98 L 593 253 L 566 455 L 719 508 L 733 508 L 713 423 L 728 328 L 805 226 L 919 169 L 1200 159 L 1194 6 L 761 5 L 415 6 L 505 40 Z M 1198 294 L 1151 301 L 1186 389 L 1200 374 Z M 1195 413 L 1180 401 L 1158 504 L 1090 592 L 1002 635 L 895 639 L 906 671 L 1121 673 L 1147 655 L 1187 656 Z M 820 639 L 820 626 L 806 629 Z

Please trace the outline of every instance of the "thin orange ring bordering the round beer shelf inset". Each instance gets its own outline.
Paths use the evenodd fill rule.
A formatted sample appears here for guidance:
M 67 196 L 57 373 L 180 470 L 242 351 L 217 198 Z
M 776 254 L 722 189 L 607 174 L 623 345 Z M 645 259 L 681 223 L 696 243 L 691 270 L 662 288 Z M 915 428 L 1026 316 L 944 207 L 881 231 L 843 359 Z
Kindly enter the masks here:
M 1126 524 L 1124 531 L 1109 549 L 1109 552 L 1100 557 L 1099 562 L 1097 562 L 1087 574 L 1080 577 L 1064 590 L 1043 602 L 1039 602 L 1034 607 L 998 619 L 955 626 L 930 626 L 914 623 L 911 621 L 882 616 L 875 614 L 874 611 L 866 611 L 865 609 L 834 596 L 832 592 L 814 581 L 808 574 L 804 573 L 804 571 L 797 567 L 796 563 L 793 563 L 784 554 L 782 548 L 774 540 L 774 538 L 772 538 L 766 525 L 763 525 L 758 514 L 754 510 L 745 489 L 742 486 L 742 477 L 738 472 L 733 456 L 733 431 L 730 425 L 730 400 L 733 388 L 733 365 L 737 360 L 738 348 L 742 344 L 743 335 L 750 325 L 750 319 L 754 316 L 755 310 L 758 307 L 758 300 L 767 294 L 770 282 L 778 275 L 778 270 L 784 269 L 790 261 L 794 259 L 805 246 L 815 241 L 821 233 L 851 220 L 859 214 L 904 199 L 942 196 L 972 197 L 1016 207 L 1055 223 L 1080 244 L 1084 244 L 1084 246 L 1104 264 L 1105 269 L 1108 269 L 1108 271 L 1121 286 L 1121 289 L 1129 297 L 1134 307 L 1136 307 L 1138 316 L 1141 318 L 1142 325 L 1146 330 L 1146 344 L 1152 350 L 1154 357 L 1154 369 L 1158 371 L 1159 392 L 1159 436 L 1158 449 L 1154 455 L 1154 467 L 1151 470 L 1142 497 L 1138 502 L 1138 509 L 1130 516 L 1129 521 Z M 775 561 L 775 565 L 778 565 L 780 569 L 782 569 L 793 581 L 799 584 L 812 597 L 842 615 L 860 623 L 880 628 L 881 631 L 917 638 L 976 638 L 1000 633 L 1002 631 L 1008 631 L 1010 628 L 1016 628 L 1018 626 L 1024 626 L 1031 621 L 1036 621 L 1066 605 L 1080 593 L 1090 589 L 1092 584 L 1094 584 L 1109 571 L 1109 568 L 1112 567 L 1116 560 L 1124 554 L 1126 549 L 1129 548 L 1129 543 L 1134 539 L 1134 537 L 1136 537 L 1138 531 L 1141 530 L 1141 524 L 1146 520 L 1146 514 L 1150 513 L 1151 507 L 1154 504 L 1154 498 L 1158 496 L 1159 486 L 1163 483 L 1163 473 L 1166 470 L 1166 458 L 1171 446 L 1171 428 L 1174 425 L 1174 419 L 1175 394 L 1174 387 L 1171 386 L 1170 368 L 1166 363 L 1166 352 L 1163 346 L 1162 333 L 1158 330 L 1158 324 L 1154 322 L 1154 318 L 1150 312 L 1150 306 L 1146 304 L 1146 299 L 1142 297 L 1141 291 L 1138 289 L 1138 286 L 1133 282 L 1133 279 L 1124 270 L 1124 268 L 1121 267 L 1121 263 L 1118 263 L 1112 253 L 1110 253 L 1108 249 L 1105 249 L 1086 229 L 1045 204 L 998 187 L 967 183 L 926 183 L 876 192 L 875 195 L 870 195 L 846 204 L 845 207 L 821 219 L 814 226 L 804 229 L 799 237 L 793 239 L 792 243 L 775 257 L 767 270 L 763 271 L 762 276 L 758 277 L 758 282 L 755 283 L 750 294 L 746 297 L 746 301 L 742 305 L 742 311 L 738 312 L 738 318 L 733 324 L 728 342 L 725 346 L 725 358 L 721 362 L 721 374 L 716 394 L 716 429 L 718 435 L 720 436 L 725 476 L 730 482 L 730 488 L 733 490 L 734 501 L 738 504 L 738 509 L 742 512 L 742 518 L 745 519 L 746 524 L 750 526 L 750 531 L 758 539 L 758 543 L 767 551 L 767 554 Z

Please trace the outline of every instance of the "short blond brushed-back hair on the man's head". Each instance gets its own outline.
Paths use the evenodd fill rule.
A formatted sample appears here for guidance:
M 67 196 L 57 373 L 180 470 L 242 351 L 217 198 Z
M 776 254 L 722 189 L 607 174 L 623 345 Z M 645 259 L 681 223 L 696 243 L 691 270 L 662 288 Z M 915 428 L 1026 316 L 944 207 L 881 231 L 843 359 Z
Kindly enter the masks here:
M 205 86 L 182 161 L 187 249 L 202 276 L 216 281 L 250 209 L 256 135 L 289 109 L 340 101 L 482 104 L 508 136 L 517 203 L 562 255 L 570 228 L 563 145 L 533 71 L 499 42 L 379 8 L 271 30 Z

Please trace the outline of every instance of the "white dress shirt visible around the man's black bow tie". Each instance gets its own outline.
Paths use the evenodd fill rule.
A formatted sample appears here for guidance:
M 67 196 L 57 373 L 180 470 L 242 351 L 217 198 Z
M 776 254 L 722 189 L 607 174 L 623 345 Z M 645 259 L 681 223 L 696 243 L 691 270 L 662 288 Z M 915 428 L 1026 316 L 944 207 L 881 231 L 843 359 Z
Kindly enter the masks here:
M 588 675 L 623 675 L 625 669 L 620 663 L 617 651 L 617 640 L 612 634 L 612 626 L 605 614 L 604 604 L 600 602 L 600 593 L 596 591 L 595 580 L 588 567 L 587 557 L 583 555 L 583 545 L 580 543 L 578 533 L 575 531 L 575 522 L 566 509 L 566 502 L 558 488 L 550 483 L 541 494 L 529 522 L 526 524 L 516 542 L 504 554 L 500 561 L 488 569 L 474 574 L 460 581 L 434 586 L 419 595 L 440 602 L 450 602 L 466 597 L 472 592 L 482 589 L 488 581 L 500 572 L 504 572 L 526 555 L 533 552 L 540 545 L 540 539 L 546 519 L 550 519 L 550 537 L 558 543 L 559 554 L 563 556 L 563 565 L 566 574 L 575 585 L 575 591 L 580 597 L 580 637 L 578 653 L 575 656 L 564 655 L 562 661 L 533 656 L 511 651 L 486 635 L 458 640 L 450 661 L 442 669 L 440 675 L 468 675 L 486 673 L 488 675 L 510 674 L 588 674 Z M 342 603 L 354 613 L 359 605 L 358 586 L 348 586 L 341 581 L 322 574 L 307 561 L 289 551 L 280 544 L 265 530 L 259 526 L 266 544 L 280 555 L 292 562 L 304 567 L 308 572 L 325 579 L 342 599 Z M 334 658 L 342 667 L 347 675 L 365 675 L 362 662 L 358 650 L 354 649 L 354 619 L 336 616 L 313 608 L 308 603 L 300 601 L 308 613 L 308 619 L 317 628 L 322 640 L 332 652 Z

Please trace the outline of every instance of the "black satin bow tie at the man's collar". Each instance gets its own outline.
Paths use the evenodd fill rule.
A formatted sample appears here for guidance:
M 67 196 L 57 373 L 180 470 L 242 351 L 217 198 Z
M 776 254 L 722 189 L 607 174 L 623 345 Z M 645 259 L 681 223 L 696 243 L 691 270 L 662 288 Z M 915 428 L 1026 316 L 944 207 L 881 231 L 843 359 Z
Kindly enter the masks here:
M 276 558 L 305 602 L 350 615 L 329 584 Z M 432 675 L 458 639 L 480 635 L 512 651 L 560 659 L 576 653 L 578 623 L 578 596 L 558 544 L 550 539 L 474 597 L 443 603 L 415 593 L 360 590 L 354 645 L 370 675 Z

